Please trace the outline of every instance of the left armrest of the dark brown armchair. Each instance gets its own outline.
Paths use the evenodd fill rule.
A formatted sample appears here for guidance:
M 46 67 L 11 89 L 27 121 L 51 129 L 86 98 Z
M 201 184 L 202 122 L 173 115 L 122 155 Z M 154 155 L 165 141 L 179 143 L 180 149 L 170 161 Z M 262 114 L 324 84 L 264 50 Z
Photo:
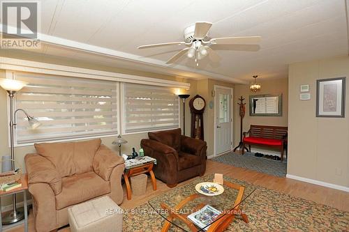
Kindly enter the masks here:
M 165 157 L 173 156 L 177 162 L 179 160 L 177 150 L 174 150 L 174 148 L 171 148 L 166 144 L 161 144 L 160 142 L 152 139 L 142 139 L 140 141 L 140 145 L 142 146 L 142 148 L 147 147 L 147 150 L 149 150 L 149 152 L 147 152 L 147 154 L 145 155 L 149 155 L 150 157 L 154 157 L 154 154 L 158 154 Z

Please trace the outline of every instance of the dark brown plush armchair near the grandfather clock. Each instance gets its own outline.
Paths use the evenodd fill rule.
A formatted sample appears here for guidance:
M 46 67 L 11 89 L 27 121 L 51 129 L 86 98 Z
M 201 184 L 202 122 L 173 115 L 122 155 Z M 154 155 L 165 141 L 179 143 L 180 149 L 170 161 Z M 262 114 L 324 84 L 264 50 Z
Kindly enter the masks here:
M 181 129 L 149 132 L 148 137 L 141 141 L 144 155 L 156 159 L 155 176 L 168 187 L 205 173 L 205 141 L 181 135 Z

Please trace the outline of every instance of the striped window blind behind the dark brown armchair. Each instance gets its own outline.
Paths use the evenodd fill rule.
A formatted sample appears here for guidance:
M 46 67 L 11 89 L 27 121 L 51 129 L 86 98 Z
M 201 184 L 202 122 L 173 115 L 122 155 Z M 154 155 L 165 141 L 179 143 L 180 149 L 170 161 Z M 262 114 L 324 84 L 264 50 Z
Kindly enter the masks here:
M 174 88 L 124 84 L 124 132 L 179 127 L 179 99 Z

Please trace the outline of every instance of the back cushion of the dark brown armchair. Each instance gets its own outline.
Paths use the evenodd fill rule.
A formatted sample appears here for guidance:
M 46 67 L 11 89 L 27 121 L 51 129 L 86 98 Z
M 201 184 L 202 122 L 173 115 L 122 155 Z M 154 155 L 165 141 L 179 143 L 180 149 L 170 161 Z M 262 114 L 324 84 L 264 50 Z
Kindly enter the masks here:
M 174 150 L 181 150 L 181 129 L 174 130 L 163 130 L 158 132 L 148 132 L 149 139 L 160 142 L 161 144 L 166 144 Z

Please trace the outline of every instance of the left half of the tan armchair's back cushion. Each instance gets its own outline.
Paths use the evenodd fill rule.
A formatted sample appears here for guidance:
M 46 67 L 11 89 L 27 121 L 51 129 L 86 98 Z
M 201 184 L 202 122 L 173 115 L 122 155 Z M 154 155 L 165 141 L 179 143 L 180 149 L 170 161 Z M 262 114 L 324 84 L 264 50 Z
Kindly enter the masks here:
M 50 160 L 61 175 L 71 176 L 75 173 L 74 143 L 34 144 L 36 153 Z

